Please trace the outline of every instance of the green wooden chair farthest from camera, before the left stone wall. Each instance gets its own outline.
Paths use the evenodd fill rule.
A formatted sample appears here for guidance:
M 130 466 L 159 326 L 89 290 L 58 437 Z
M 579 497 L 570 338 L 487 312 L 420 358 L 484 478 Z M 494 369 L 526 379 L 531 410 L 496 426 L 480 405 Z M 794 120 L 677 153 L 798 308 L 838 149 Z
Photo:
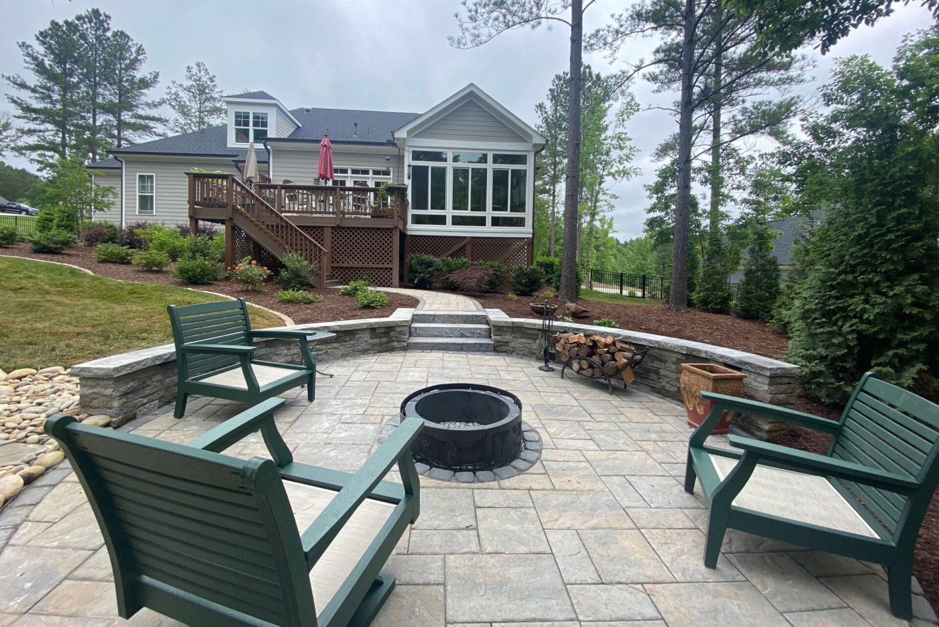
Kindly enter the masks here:
M 290 329 L 251 330 L 244 298 L 169 305 L 177 351 L 177 402 L 173 415 L 182 418 L 190 394 L 213 396 L 256 405 L 286 390 L 305 385 L 306 398 L 316 395 L 316 359 L 308 342 L 334 333 Z M 300 345 L 302 365 L 254 359 L 253 340 L 274 338 Z

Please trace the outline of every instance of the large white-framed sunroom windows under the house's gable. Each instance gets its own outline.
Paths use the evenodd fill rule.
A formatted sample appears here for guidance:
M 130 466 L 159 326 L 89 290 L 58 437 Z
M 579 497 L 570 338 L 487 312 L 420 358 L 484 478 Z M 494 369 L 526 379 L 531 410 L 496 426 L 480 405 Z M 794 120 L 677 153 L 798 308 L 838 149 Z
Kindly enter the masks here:
M 427 152 L 443 152 L 447 156 L 447 161 L 411 161 L 411 153 L 414 150 L 427 151 Z M 487 154 L 485 163 L 467 163 L 467 162 L 454 162 L 454 152 L 484 152 Z M 525 155 L 526 163 L 524 165 L 510 165 L 510 164 L 494 164 L 493 155 Z M 484 232 L 487 235 L 498 236 L 500 234 L 505 235 L 514 235 L 514 234 L 531 234 L 534 220 L 534 210 L 531 204 L 532 196 L 532 186 L 534 185 L 534 154 L 531 150 L 524 149 L 508 149 L 508 148 L 498 148 L 498 147 L 438 147 L 430 145 L 420 145 L 420 146 L 411 146 L 406 151 L 407 163 L 406 168 L 408 169 L 408 199 L 411 201 L 410 210 L 408 210 L 408 215 L 411 216 L 408 218 L 408 229 L 415 230 L 445 230 L 445 231 L 469 231 L 469 232 Z M 446 183 L 446 207 L 443 210 L 431 210 L 431 209 L 418 209 L 413 205 L 413 198 L 411 196 L 413 186 L 410 181 L 410 172 L 412 166 L 415 165 L 426 165 L 428 167 L 445 167 L 447 169 Z M 469 210 L 455 210 L 453 207 L 453 180 L 454 180 L 454 168 L 485 168 L 486 170 L 486 188 L 485 188 L 485 211 L 469 211 Z M 524 212 L 513 212 L 513 211 L 493 211 L 492 209 L 492 192 L 493 192 L 493 170 L 524 170 L 525 175 L 525 211 Z M 429 176 L 429 172 L 428 172 Z M 511 176 L 511 175 L 510 175 Z M 511 178 L 510 178 L 511 181 Z M 430 197 L 430 189 L 428 185 L 428 198 Z M 511 182 L 510 182 L 510 195 L 511 195 Z M 445 215 L 446 223 L 445 224 L 416 224 L 414 222 L 415 215 Z M 454 226 L 453 217 L 455 216 L 485 216 L 485 225 L 484 226 Z M 493 217 L 517 217 L 525 219 L 525 226 L 492 226 Z

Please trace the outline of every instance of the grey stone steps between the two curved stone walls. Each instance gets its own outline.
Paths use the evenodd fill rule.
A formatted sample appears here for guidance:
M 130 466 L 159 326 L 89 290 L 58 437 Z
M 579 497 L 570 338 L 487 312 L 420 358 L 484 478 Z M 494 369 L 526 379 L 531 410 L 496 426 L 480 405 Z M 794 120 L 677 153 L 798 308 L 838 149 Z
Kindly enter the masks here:
M 411 315 L 408 350 L 492 351 L 492 329 L 484 312 L 426 312 Z

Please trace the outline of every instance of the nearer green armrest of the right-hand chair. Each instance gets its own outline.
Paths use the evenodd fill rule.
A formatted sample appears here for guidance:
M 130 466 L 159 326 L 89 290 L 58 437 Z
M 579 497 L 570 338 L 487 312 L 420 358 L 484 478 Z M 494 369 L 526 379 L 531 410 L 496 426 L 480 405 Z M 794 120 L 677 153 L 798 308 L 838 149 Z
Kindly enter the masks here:
M 758 459 L 777 462 L 796 470 L 835 477 L 847 482 L 863 483 L 864 485 L 870 485 L 870 487 L 906 496 L 912 495 L 919 489 L 918 482 L 880 468 L 845 462 L 814 452 L 798 451 L 797 449 L 770 444 L 752 437 L 728 436 L 727 439 L 731 446 L 750 451 Z

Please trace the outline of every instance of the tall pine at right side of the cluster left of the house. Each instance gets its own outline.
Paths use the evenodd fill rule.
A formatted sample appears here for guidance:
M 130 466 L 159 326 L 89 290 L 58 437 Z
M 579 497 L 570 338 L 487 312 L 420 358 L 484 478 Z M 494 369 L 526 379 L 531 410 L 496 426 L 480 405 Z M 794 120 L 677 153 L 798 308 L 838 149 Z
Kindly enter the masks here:
M 147 92 L 160 82 L 160 72 L 143 72 L 144 47 L 122 30 L 111 35 L 107 58 L 107 101 L 105 111 L 113 123 L 115 147 L 135 144 L 159 135 L 166 124 L 162 115 L 148 113 L 160 106 L 160 100 L 147 99 Z

